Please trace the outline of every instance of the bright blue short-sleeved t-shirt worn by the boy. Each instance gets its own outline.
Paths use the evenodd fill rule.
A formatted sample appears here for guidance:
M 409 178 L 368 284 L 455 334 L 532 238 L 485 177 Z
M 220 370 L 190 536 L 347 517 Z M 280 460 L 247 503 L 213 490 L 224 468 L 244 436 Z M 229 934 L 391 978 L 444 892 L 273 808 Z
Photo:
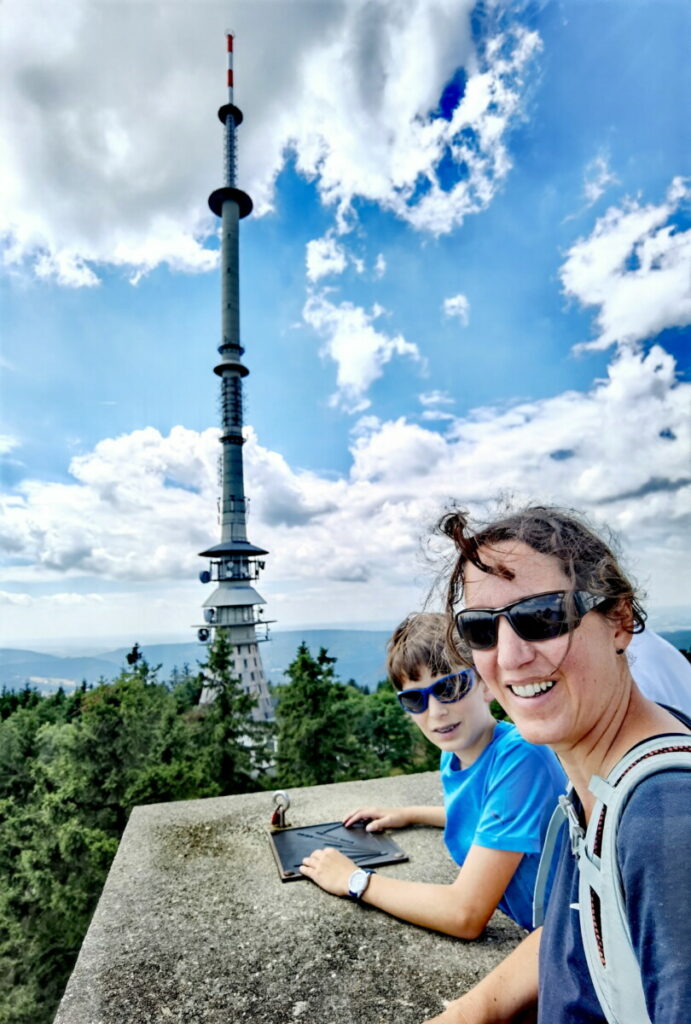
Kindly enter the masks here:
M 500 908 L 522 928 L 532 928 L 532 894 L 545 833 L 566 776 L 547 746 L 533 746 L 514 725 L 498 722 L 480 757 L 461 768 L 442 753 L 444 842 L 461 866 L 471 846 L 521 852 Z

